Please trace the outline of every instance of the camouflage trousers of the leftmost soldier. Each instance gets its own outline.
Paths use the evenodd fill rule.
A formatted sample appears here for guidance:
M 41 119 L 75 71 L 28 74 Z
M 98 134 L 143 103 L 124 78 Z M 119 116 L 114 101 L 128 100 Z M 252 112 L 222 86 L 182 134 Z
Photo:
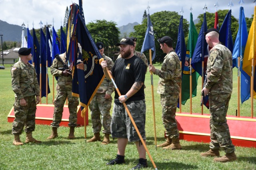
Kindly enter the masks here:
M 23 127 L 25 132 L 32 132 L 35 130 L 36 118 L 36 98 L 35 96 L 24 97 L 27 106 L 21 106 L 20 100 L 15 98 L 14 115 L 15 119 L 12 122 L 12 135 L 20 135 Z

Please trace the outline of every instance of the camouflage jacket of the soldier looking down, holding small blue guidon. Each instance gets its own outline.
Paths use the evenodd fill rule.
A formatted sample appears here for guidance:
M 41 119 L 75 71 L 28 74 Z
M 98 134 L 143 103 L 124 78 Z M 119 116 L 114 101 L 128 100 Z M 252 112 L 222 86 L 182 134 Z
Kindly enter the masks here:
M 161 70 L 154 73 L 160 77 L 158 82 L 158 94 L 179 95 L 181 85 L 180 59 L 174 50 L 165 57 Z

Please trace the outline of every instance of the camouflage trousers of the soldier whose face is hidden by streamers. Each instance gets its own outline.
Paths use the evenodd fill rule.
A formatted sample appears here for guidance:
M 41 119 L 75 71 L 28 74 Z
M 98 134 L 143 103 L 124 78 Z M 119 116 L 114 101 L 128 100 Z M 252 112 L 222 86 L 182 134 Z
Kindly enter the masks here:
M 72 96 L 71 90 L 57 90 L 56 98 L 54 99 L 54 112 L 51 127 L 60 127 L 62 119 L 63 107 L 68 98 L 69 123 L 68 126 L 76 127 L 77 121 L 77 106 L 78 98 Z

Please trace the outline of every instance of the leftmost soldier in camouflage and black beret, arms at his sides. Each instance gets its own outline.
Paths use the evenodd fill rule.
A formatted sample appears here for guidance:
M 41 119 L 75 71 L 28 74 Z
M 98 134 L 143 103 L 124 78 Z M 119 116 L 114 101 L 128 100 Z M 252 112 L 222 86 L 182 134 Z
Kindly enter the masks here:
M 40 102 L 40 87 L 38 85 L 36 70 L 28 61 L 32 59 L 31 48 L 20 48 L 18 51 L 20 61 L 11 68 L 12 90 L 15 93 L 14 115 L 12 123 L 13 145 L 23 145 L 20 134 L 25 125 L 25 143 L 41 143 L 32 137 L 35 130 L 36 104 Z M 35 98 L 36 96 L 36 98 Z

